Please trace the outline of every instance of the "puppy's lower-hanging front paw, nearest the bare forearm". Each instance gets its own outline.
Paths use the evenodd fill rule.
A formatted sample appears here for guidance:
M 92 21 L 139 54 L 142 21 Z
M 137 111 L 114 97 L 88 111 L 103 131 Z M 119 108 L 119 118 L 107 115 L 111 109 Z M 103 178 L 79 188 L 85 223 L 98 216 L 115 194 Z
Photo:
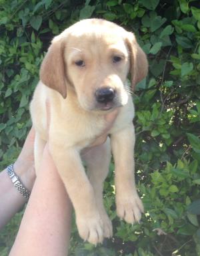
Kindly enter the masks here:
M 77 217 L 76 222 L 79 235 L 84 241 L 89 241 L 93 245 L 103 242 L 103 222 L 99 215 Z

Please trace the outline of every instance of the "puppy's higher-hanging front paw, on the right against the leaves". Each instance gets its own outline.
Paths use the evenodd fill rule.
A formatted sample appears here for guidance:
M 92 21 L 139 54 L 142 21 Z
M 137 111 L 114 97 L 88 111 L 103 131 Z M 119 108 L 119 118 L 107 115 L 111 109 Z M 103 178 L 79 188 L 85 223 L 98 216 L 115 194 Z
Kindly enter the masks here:
M 122 194 L 123 195 L 116 195 L 118 217 L 131 224 L 139 222 L 141 214 L 144 212 L 144 207 L 137 192 L 133 192 L 131 195 Z

